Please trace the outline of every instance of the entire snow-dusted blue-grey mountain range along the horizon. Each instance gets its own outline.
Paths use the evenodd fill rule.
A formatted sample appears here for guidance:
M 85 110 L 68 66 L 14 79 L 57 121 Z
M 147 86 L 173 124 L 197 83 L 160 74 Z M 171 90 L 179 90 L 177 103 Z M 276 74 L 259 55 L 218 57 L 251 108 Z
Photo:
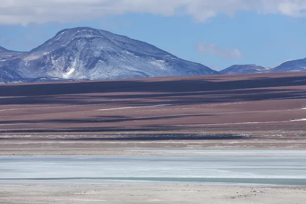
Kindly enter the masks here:
M 301 71 L 306 58 L 274 68 L 233 65 L 220 72 L 146 42 L 93 28 L 65 29 L 30 52 L 0 46 L 0 83 L 133 79 Z

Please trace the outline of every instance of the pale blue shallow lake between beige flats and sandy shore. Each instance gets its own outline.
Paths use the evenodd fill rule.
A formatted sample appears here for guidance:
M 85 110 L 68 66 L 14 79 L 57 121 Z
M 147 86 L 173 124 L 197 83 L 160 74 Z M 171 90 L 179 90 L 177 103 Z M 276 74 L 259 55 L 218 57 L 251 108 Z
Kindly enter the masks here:
M 277 154 L 0 157 L 0 182 L 56 180 L 306 185 L 306 157 Z

